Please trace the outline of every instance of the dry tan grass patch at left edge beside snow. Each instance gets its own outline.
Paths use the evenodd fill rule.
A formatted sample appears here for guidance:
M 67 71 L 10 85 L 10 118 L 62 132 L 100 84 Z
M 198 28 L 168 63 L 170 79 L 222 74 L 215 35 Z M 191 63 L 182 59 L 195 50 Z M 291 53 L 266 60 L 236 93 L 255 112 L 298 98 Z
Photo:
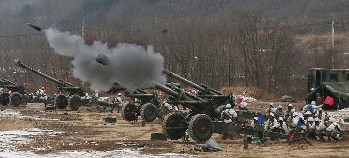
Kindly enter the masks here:
M 14 118 L 1 118 L 0 125 L 1 125 L 0 131 L 11 131 L 11 130 L 33 128 L 32 123 L 21 121 L 21 120 L 17 119 L 16 117 L 14 117 Z

